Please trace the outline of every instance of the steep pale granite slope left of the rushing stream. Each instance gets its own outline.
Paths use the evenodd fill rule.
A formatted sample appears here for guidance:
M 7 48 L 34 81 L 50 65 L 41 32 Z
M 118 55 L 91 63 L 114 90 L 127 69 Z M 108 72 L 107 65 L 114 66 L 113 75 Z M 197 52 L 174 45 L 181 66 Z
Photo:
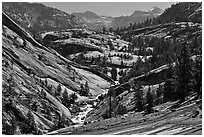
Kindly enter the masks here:
M 6 14 L 2 19 L 4 134 L 40 134 L 55 129 L 60 121 L 68 126 L 75 105 L 62 104 L 65 89 L 80 101 L 87 98 L 79 94 L 81 83 L 88 82 L 90 97 L 109 87 L 107 80 L 36 42 Z M 61 93 L 56 96 L 59 84 Z

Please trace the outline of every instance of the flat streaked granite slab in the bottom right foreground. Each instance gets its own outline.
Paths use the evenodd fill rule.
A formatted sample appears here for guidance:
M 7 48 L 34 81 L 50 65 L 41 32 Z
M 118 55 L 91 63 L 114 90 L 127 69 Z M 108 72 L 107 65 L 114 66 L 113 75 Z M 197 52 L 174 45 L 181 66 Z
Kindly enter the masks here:
M 157 106 L 158 112 L 148 115 L 141 113 L 101 120 L 87 125 L 64 128 L 48 134 L 73 135 L 201 135 L 202 110 L 195 102 L 187 102 L 175 111 L 166 106 Z

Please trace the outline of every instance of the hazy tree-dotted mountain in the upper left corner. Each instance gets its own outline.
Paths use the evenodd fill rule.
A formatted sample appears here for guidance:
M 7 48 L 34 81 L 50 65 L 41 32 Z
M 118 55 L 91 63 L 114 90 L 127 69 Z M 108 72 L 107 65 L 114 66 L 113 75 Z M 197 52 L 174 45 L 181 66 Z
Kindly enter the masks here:
M 61 10 L 39 3 L 3 2 L 2 10 L 31 32 L 82 27 L 82 21 Z

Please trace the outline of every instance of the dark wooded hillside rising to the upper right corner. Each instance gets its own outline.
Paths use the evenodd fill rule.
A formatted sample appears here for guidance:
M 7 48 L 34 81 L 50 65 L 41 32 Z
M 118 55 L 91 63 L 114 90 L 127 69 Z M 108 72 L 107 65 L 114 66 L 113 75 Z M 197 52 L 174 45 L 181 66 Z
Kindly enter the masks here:
M 127 28 L 121 28 L 120 34 L 123 31 L 134 31 L 135 29 L 151 27 L 153 25 L 161 25 L 171 22 L 193 22 L 202 23 L 202 3 L 199 2 L 178 2 L 171 5 L 170 8 L 158 17 L 151 20 L 145 20 L 142 23 L 134 23 Z M 117 30 L 118 31 L 118 30 Z

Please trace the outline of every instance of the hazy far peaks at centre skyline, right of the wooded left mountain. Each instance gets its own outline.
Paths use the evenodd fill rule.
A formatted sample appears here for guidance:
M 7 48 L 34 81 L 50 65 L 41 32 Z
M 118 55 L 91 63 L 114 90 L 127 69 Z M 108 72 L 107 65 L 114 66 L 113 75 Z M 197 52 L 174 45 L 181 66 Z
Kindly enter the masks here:
M 110 17 L 110 16 L 100 16 L 94 12 L 86 11 L 83 13 L 72 13 L 78 19 L 83 20 L 83 22 L 90 28 L 101 29 L 103 26 L 109 28 L 117 27 L 127 27 L 130 23 L 141 23 L 147 18 L 153 18 L 159 16 L 163 13 L 163 10 L 158 7 L 153 7 L 149 11 L 136 10 L 130 16 L 120 16 L 120 17 Z

